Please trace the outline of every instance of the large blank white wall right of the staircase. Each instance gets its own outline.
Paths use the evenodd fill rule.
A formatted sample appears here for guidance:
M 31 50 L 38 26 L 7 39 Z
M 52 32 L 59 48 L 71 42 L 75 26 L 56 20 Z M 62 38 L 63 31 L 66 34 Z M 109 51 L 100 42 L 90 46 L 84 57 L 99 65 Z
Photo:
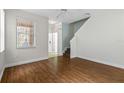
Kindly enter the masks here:
M 79 29 L 77 57 L 124 68 L 124 10 L 101 10 Z

